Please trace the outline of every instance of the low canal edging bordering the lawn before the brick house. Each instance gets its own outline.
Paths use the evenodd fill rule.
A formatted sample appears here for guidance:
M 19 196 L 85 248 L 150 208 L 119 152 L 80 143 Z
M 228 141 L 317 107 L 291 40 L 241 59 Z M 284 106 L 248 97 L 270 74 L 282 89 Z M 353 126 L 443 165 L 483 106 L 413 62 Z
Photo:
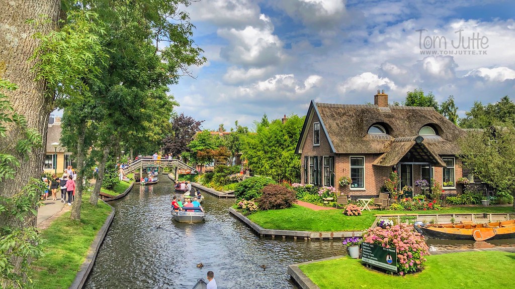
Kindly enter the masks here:
M 294 240 L 297 238 L 302 238 L 303 240 L 333 240 L 333 239 L 343 239 L 347 237 L 361 237 L 363 236 L 364 231 L 339 231 L 339 232 L 312 232 L 312 231 L 291 231 L 291 230 L 273 230 L 273 229 L 263 229 L 260 225 L 250 221 L 249 218 L 244 216 L 242 213 L 238 212 L 234 208 L 229 208 L 229 212 L 236 216 L 240 221 L 244 222 L 253 229 L 256 233 L 260 235 L 260 237 L 271 236 L 272 239 L 276 237 L 281 237 L 286 239 L 286 237 L 293 237 Z

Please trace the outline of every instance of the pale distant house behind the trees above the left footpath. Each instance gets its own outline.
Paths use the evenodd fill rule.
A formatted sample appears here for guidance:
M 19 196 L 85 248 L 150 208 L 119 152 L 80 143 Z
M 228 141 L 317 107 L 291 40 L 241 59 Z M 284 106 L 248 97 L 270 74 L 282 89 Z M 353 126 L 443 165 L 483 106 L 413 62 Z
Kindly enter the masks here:
M 67 166 L 72 165 L 71 152 L 68 152 L 61 145 L 58 145 L 57 148 L 52 146 L 52 143 L 60 143 L 61 131 L 61 118 L 50 116 L 46 133 L 46 154 L 43 162 L 45 172 L 53 173 L 57 171 L 62 173 Z

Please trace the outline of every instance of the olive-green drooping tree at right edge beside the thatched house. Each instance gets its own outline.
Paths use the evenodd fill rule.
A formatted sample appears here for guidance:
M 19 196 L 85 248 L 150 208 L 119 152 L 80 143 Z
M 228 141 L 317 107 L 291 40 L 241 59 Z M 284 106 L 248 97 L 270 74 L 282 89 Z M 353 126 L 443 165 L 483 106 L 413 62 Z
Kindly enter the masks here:
M 466 168 L 483 182 L 515 197 L 515 128 L 469 132 L 459 141 Z M 515 202 L 513 202 L 515 210 Z

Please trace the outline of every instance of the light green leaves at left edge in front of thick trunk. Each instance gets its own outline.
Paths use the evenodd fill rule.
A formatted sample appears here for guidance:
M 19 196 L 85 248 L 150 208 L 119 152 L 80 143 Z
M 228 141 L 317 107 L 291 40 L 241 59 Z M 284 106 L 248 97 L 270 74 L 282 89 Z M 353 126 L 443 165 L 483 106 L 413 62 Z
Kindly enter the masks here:
M 7 140 L 7 126 L 16 135 L 6 146 L 0 147 L 0 186 L 16 176 L 16 169 L 29 153 L 41 147 L 41 135 L 27 126 L 24 116 L 15 112 L 3 91 L 14 91 L 16 85 L 0 79 L 0 143 Z M 11 134 L 11 136 L 13 136 Z M 2 288 L 23 288 L 30 279 L 25 278 L 30 270 L 30 258 L 41 256 L 38 231 L 32 226 L 23 226 L 27 217 L 35 218 L 40 205 L 39 196 L 45 185 L 41 180 L 29 178 L 25 185 L 9 196 L 0 196 L 0 284 Z

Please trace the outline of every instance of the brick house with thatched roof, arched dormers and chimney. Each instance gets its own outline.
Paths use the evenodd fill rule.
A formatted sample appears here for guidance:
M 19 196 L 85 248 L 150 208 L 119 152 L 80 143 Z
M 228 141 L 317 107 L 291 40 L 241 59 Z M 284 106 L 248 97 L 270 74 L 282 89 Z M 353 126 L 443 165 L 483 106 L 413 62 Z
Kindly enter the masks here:
M 388 105 L 377 91 L 374 104 L 311 101 L 296 153 L 301 154 L 301 183 L 334 186 L 341 194 L 376 196 L 392 170 L 400 188 L 416 188 L 417 179 L 434 178 L 445 194 L 460 193 L 463 176 L 457 139 L 465 131 L 433 107 Z M 342 176 L 352 179 L 340 186 Z M 471 180 L 474 176 L 470 174 Z

